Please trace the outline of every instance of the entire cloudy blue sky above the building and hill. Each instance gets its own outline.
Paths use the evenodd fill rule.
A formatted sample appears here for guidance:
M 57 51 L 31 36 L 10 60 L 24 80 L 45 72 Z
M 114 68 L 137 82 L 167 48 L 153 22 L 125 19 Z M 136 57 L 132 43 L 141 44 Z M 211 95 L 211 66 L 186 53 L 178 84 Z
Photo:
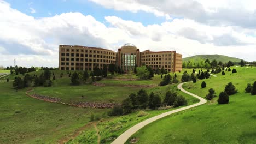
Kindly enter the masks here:
M 0 65 L 58 67 L 59 45 L 256 61 L 256 1 L 0 0 Z

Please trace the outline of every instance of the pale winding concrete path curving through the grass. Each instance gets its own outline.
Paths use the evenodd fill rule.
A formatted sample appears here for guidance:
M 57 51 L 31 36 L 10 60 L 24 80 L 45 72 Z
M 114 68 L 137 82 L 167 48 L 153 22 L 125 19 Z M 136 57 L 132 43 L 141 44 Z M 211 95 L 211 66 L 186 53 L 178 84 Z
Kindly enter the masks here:
M 184 83 L 187 83 L 187 82 L 184 82 Z M 200 100 L 199 103 L 196 103 L 196 104 L 193 104 L 193 105 L 189 105 L 189 106 L 185 106 L 185 107 L 182 107 L 182 108 L 179 108 L 179 109 L 176 109 L 176 110 L 172 110 L 172 111 L 168 111 L 168 112 L 165 112 L 165 113 L 162 113 L 160 115 L 157 115 L 157 116 L 154 116 L 152 118 L 149 118 L 149 119 L 146 119 L 145 121 L 143 122 L 140 122 L 136 125 L 134 125 L 133 127 L 131 127 L 130 129 L 126 130 L 123 134 L 121 134 L 120 136 L 117 137 L 117 139 L 115 139 L 112 144 L 122 144 L 122 143 L 125 143 L 129 137 L 131 137 L 133 134 L 135 134 L 139 129 L 143 128 L 145 125 L 149 124 L 149 123 L 152 123 L 162 117 L 166 117 L 168 115 L 171 115 L 172 113 L 176 113 L 176 112 L 179 112 L 179 111 L 183 111 L 183 110 L 187 110 L 187 109 L 190 109 L 192 107 L 196 107 L 196 106 L 199 106 L 199 105 L 202 105 L 202 104 L 205 104 L 207 102 L 207 100 L 193 94 L 193 93 L 190 93 L 188 91 L 185 91 L 185 89 L 182 88 L 182 85 L 184 83 L 180 83 L 178 85 L 178 89 L 181 89 L 182 92 L 184 93 L 187 93 L 189 95 L 191 95 L 192 97 L 195 97 L 197 99 Z

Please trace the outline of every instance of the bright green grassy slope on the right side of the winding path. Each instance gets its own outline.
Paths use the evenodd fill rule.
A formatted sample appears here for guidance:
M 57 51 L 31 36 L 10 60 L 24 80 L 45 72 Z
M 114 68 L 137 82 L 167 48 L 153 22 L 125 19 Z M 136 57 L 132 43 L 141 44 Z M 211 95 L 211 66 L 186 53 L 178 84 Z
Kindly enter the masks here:
M 217 95 L 228 82 L 233 82 L 238 93 L 230 96 L 230 103 L 211 103 L 162 118 L 139 130 L 133 137 L 138 143 L 254 143 L 256 141 L 256 98 L 245 93 L 247 82 L 256 80 L 256 68 L 236 67 L 238 73 L 217 74 L 205 80 L 207 88 L 201 89 L 201 81 L 187 83 L 183 87 L 205 97 L 208 89 Z

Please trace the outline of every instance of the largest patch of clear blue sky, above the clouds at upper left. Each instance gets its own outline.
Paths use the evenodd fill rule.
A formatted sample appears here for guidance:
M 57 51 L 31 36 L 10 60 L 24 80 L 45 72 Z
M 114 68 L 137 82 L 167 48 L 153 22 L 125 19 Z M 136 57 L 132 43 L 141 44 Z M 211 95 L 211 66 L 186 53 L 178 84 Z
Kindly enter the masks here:
M 152 24 L 160 24 L 165 22 L 165 17 L 156 17 L 154 14 L 138 11 L 138 13 L 131 13 L 130 11 L 120 11 L 114 9 L 107 9 L 90 1 L 80 0 L 7 0 L 12 8 L 18 9 L 22 13 L 31 15 L 33 17 L 51 17 L 60 15 L 62 13 L 79 12 L 84 15 L 91 15 L 96 20 L 104 22 L 105 16 L 117 16 L 124 20 L 132 20 L 141 22 L 144 26 Z M 36 10 L 36 13 L 31 13 L 31 9 Z M 108 25 L 108 24 L 107 24 Z

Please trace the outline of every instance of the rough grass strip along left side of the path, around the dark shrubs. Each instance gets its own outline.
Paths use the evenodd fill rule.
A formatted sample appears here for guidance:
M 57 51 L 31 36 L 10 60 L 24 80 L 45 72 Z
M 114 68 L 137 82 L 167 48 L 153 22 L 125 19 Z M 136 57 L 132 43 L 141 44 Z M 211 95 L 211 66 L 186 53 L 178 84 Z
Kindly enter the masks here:
M 193 104 L 197 102 L 197 99 L 191 97 L 190 95 L 183 94 L 181 91 L 177 90 L 177 85 L 168 85 L 163 87 L 155 87 L 152 89 L 147 89 L 147 92 L 154 92 L 159 94 L 162 99 L 166 91 L 176 91 L 178 94 L 184 95 L 188 100 L 188 104 Z M 169 110 L 147 110 L 148 115 L 143 117 L 138 117 L 139 112 L 132 113 L 130 115 L 118 116 L 118 117 L 108 117 L 103 118 L 101 121 L 97 122 L 97 127 L 100 129 L 101 143 L 111 143 L 114 140 L 114 137 L 119 136 L 125 130 L 129 129 L 133 125 L 143 121 L 144 119 L 159 115 L 160 113 L 170 111 Z M 96 132 L 94 128 L 86 129 L 76 137 L 74 140 L 69 141 L 69 143 L 95 143 L 97 140 Z

